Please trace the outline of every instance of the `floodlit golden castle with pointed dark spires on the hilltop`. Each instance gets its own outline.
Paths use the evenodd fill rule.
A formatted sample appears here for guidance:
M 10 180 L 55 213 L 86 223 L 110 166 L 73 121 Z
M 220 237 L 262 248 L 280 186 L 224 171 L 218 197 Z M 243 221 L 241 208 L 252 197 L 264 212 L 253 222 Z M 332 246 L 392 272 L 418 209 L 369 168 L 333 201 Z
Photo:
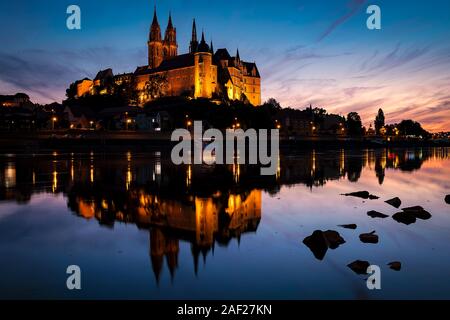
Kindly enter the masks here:
M 220 98 L 245 100 L 254 106 L 261 104 L 261 77 L 254 62 L 245 62 L 237 50 L 231 56 L 227 49 L 214 52 L 212 42 L 208 45 L 202 32 L 197 37 L 195 19 L 189 52 L 178 54 L 177 30 L 169 14 L 162 37 L 156 8 L 148 37 L 148 64 L 134 73 L 114 76 L 111 69 L 99 72 L 94 81 L 84 79 L 77 83 L 77 96 L 92 94 L 96 86 L 104 82 L 104 76 L 115 83 L 133 79 L 138 92 L 138 103 L 151 100 L 149 86 L 162 82 L 160 96 L 188 96 L 192 98 Z M 156 80 L 155 80 L 156 79 Z M 105 89 L 103 89 L 105 90 Z M 98 91 L 97 91 L 98 92 Z

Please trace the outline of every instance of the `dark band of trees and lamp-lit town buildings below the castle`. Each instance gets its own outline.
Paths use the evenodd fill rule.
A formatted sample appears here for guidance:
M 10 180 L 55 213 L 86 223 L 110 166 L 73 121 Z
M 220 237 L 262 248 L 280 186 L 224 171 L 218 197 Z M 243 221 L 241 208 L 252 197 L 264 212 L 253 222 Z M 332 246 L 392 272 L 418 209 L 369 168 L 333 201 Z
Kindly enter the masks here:
M 69 90 L 68 90 L 69 92 Z M 303 110 L 282 107 L 275 99 L 260 106 L 245 101 L 218 101 L 189 96 L 158 97 L 142 106 L 129 104 L 120 86 L 108 93 L 68 97 L 62 104 L 33 103 L 27 94 L 0 96 L 0 130 L 3 133 L 45 133 L 49 139 L 82 139 L 104 133 L 161 136 L 175 128 L 190 129 L 193 121 L 225 129 L 276 128 L 282 140 L 359 138 L 372 141 L 449 142 L 449 132 L 429 133 L 413 120 L 389 123 L 382 109 L 365 127 L 356 112 L 330 114 L 319 106 Z M 206 128 L 205 128 L 206 129 Z

